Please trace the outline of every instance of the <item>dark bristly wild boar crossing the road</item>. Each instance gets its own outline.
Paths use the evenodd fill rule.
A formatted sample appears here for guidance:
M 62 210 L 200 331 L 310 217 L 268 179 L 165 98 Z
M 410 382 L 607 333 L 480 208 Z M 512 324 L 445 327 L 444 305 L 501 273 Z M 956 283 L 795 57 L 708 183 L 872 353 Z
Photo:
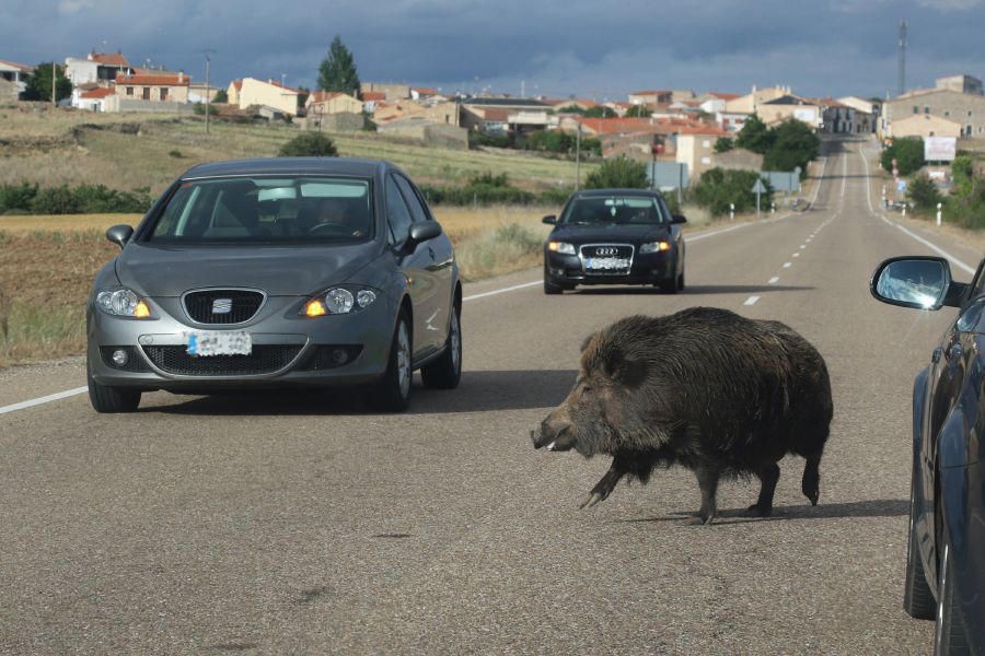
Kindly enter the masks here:
M 681 465 L 702 492 L 693 523 L 710 524 L 728 476 L 755 475 L 762 488 L 749 513 L 769 515 L 787 454 L 807 459 L 801 490 L 816 505 L 832 412 L 824 359 L 803 337 L 779 321 L 693 307 L 591 335 L 575 388 L 531 437 L 535 448 L 613 456 L 581 507 L 623 477 L 646 483 L 654 468 Z

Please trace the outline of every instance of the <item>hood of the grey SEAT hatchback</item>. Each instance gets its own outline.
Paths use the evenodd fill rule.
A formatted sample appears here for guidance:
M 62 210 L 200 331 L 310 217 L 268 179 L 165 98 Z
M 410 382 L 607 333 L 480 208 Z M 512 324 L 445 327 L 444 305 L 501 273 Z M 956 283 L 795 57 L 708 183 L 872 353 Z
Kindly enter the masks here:
M 148 296 L 179 296 L 200 288 L 253 288 L 271 296 L 311 294 L 348 280 L 379 251 L 356 245 L 157 246 L 131 242 L 116 259 L 125 286 Z

